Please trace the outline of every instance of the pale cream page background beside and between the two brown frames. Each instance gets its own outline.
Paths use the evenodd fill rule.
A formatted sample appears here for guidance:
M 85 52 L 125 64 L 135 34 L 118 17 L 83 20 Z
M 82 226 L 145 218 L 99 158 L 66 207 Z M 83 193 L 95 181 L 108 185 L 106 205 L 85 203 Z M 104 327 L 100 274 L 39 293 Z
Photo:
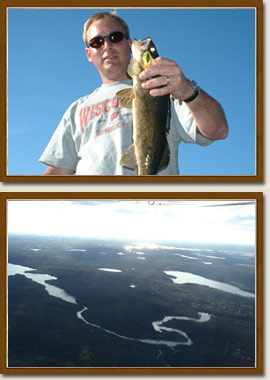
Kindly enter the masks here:
M 268 24 L 267 24 L 268 21 Z M 269 306 L 269 294 L 270 290 L 270 261 L 269 261 L 269 217 L 270 217 L 270 134 L 268 126 L 270 124 L 270 112 L 269 112 L 269 22 L 270 22 L 270 0 L 264 0 L 264 183 L 263 184 L 3 184 L 0 183 L 1 192 L 263 192 L 264 193 L 264 375 L 263 379 L 270 379 L 270 361 L 269 361 L 269 321 L 270 321 L 270 306 Z M 228 152 L 230 154 L 230 152 Z M 224 157 L 226 159 L 226 157 Z M 190 375 L 178 375 L 182 380 L 190 380 Z M 198 375 L 197 375 L 198 376 Z M 17 378 L 15 375 L 9 375 L 9 379 Z M 67 376 L 62 376 L 66 378 Z M 119 377 L 119 376 L 118 376 Z M 122 379 L 133 379 L 138 376 L 121 376 Z M 140 376 L 141 377 L 141 376 Z M 146 377 L 146 376 L 143 376 Z M 149 377 L 149 376 L 148 376 Z M 151 379 L 157 379 L 160 376 L 151 376 Z M 172 376 L 164 375 L 162 378 L 168 379 Z M 203 379 L 212 379 L 217 376 L 199 376 Z M 4 379 L 4 375 L 0 375 L 0 378 Z M 39 376 L 31 376 L 32 379 L 39 378 Z M 57 379 L 59 376 L 42 376 L 42 379 Z M 73 375 L 73 378 L 81 379 L 81 376 Z M 91 379 L 110 379 L 111 376 L 98 376 L 93 375 Z M 230 380 L 238 379 L 237 375 L 218 376 L 219 379 L 229 378 Z M 257 378 L 257 376 L 248 376 L 249 379 Z M 261 378 L 261 377 L 260 377 Z

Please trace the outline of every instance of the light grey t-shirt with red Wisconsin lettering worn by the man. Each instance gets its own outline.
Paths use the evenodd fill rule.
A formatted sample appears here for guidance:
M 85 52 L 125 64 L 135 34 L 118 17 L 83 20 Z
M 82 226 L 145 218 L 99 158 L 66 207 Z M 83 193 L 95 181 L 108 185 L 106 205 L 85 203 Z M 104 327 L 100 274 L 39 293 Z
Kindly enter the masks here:
M 72 103 L 65 112 L 39 161 L 76 175 L 136 175 L 137 170 L 120 165 L 132 144 L 132 111 L 119 107 L 116 92 L 132 81 L 102 84 L 92 94 Z M 178 175 L 178 146 L 181 141 L 209 145 L 211 140 L 196 133 L 196 124 L 185 103 L 171 100 L 167 135 L 170 162 L 158 175 Z

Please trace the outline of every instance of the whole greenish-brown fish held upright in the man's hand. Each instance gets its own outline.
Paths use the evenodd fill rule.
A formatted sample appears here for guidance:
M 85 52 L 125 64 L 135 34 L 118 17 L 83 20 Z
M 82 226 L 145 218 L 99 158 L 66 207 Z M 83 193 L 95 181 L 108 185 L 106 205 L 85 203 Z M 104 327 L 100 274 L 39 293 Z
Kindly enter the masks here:
M 170 160 L 167 134 L 170 128 L 170 95 L 154 97 L 142 88 L 140 73 L 157 58 L 158 52 L 150 37 L 136 40 L 127 73 L 133 87 L 120 90 L 119 106 L 132 109 L 133 144 L 122 154 L 120 165 L 138 169 L 138 175 L 155 175 L 165 169 Z

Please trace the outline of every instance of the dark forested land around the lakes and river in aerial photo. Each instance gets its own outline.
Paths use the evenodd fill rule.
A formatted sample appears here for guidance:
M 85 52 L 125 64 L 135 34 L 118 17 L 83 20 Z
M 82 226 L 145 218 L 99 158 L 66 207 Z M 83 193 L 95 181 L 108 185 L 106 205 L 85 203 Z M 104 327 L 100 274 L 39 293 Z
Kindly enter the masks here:
M 208 286 L 175 284 L 164 274 L 166 270 L 185 271 L 254 292 L 254 255 L 250 248 L 250 252 L 244 247 L 236 255 L 223 247 L 209 255 L 208 251 L 164 246 L 125 250 L 130 243 L 10 238 L 10 263 L 57 277 L 50 283 L 75 297 L 77 304 L 50 296 L 44 286 L 23 275 L 9 276 L 9 367 L 255 366 L 255 299 Z M 206 256 L 212 256 L 207 258 L 212 265 L 203 264 Z M 121 273 L 99 270 L 104 267 Z M 91 325 L 77 318 L 83 307 L 88 308 L 83 317 Z M 166 327 L 184 331 L 192 340 L 189 346 L 172 348 L 136 340 L 185 341 L 176 332 L 155 331 L 152 322 L 165 316 L 197 319 L 200 312 L 210 314 L 211 319 L 205 323 L 166 323 Z

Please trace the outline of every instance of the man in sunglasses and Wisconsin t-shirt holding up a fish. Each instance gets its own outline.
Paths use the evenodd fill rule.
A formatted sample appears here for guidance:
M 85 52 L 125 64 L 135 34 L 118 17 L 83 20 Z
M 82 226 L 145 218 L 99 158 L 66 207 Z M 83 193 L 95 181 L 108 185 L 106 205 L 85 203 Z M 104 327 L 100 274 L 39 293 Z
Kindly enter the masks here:
M 127 74 L 131 44 L 126 23 L 114 13 L 97 13 L 84 25 L 89 62 L 102 85 L 74 102 L 64 114 L 40 161 L 44 175 L 136 175 L 120 165 L 132 144 L 132 113 L 120 108 L 115 94 L 132 86 Z M 140 75 L 152 96 L 171 95 L 171 123 L 167 139 L 170 162 L 158 175 L 178 175 L 181 141 L 209 145 L 224 139 L 228 126 L 221 106 L 187 79 L 173 61 L 158 57 Z

